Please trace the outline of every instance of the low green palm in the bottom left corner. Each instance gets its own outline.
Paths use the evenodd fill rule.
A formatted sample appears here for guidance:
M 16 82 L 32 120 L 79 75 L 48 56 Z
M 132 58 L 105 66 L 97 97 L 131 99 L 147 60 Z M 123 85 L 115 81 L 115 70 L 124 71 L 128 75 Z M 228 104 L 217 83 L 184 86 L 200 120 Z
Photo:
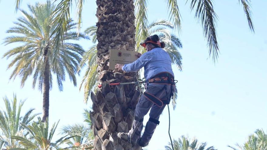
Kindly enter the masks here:
M 25 102 L 20 100 L 17 103 L 17 96 L 13 95 L 12 100 L 3 98 L 6 111 L 0 111 L 0 149 L 20 148 L 18 141 L 12 136 L 25 136 L 24 127 L 21 124 L 29 125 L 32 119 L 39 114 L 33 114 L 33 108 L 29 109 L 25 115 L 21 115 L 22 106 Z

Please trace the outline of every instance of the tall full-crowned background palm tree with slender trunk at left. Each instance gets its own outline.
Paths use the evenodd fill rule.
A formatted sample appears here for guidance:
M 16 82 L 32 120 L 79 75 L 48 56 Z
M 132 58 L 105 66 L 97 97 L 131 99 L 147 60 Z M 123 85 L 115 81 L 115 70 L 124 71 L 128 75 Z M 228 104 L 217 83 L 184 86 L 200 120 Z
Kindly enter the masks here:
M 66 74 L 74 86 L 77 85 L 75 74 L 83 55 L 83 48 L 68 40 L 79 40 L 80 38 L 89 39 L 84 34 L 73 32 L 76 24 L 72 20 L 68 21 L 66 34 L 64 34 L 64 43 L 59 50 L 54 51 L 55 47 L 51 44 L 56 38 L 52 32 L 56 28 L 53 23 L 52 13 L 55 6 L 47 1 L 45 4 L 36 3 L 28 5 L 31 14 L 21 10 L 23 17 L 14 22 L 15 27 L 10 28 L 7 33 L 13 35 L 5 38 L 5 45 L 22 43 L 6 52 L 3 57 L 10 58 L 15 56 L 8 65 L 8 69 L 15 66 L 10 79 L 21 77 L 21 87 L 24 86 L 26 79 L 33 75 L 32 88 L 35 88 L 36 82 L 38 88 L 43 92 L 43 117 L 45 121 L 49 116 L 49 90 L 52 88 L 52 74 L 56 75 L 58 88 L 63 90 L 62 82 L 65 81 Z

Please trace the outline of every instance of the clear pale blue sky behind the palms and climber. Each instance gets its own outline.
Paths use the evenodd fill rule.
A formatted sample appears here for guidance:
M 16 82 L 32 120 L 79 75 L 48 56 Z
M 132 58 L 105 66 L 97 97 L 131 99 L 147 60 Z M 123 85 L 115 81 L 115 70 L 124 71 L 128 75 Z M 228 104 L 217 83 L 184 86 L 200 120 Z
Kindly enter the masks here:
M 24 0 L 26 4 L 42 1 Z M 264 0 L 253 1 L 252 12 L 255 34 L 248 29 L 248 24 L 238 0 L 215 1 L 215 11 L 218 15 L 217 34 L 220 48 L 218 63 L 213 64 L 208 58 L 208 48 L 202 35 L 201 26 L 190 13 L 185 1 L 178 1 L 182 15 L 182 32 L 179 35 L 183 48 L 183 71 L 175 66 L 173 70 L 178 80 L 179 91 L 177 108 L 171 110 L 171 135 L 178 138 L 181 135 L 196 137 L 201 142 L 214 145 L 215 148 L 227 150 L 227 145 L 243 143 L 248 135 L 257 128 L 267 129 L 267 13 Z M 96 3 L 87 1 L 83 7 L 82 31 L 95 25 L 97 18 Z M 167 19 L 167 5 L 159 0 L 148 2 L 148 18 L 152 22 L 157 19 Z M 73 18 L 75 17 L 73 8 Z M 15 2 L 2 0 L 0 3 L 0 40 L 3 42 L 5 31 L 13 26 L 13 21 L 21 16 L 15 13 Z M 173 31 L 175 34 L 177 32 Z M 79 42 L 88 49 L 92 43 Z M 0 45 L 0 55 L 16 45 Z M 20 78 L 9 81 L 12 70 L 7 70 L 10 60 L 0 59 L 0 96 L 12 98 L 13 93 L 19 99 L 27 98 L 23 111 L 36 108 L 42 112 L 42 93 L 31 88 L 29 78 L 24 88 L 20 88 Z M 83 73 L 82 73 L 83 75 Z M 77 77 L 78 83 L 81 77 Z M 59 92 L 56 83 L 50 92 L 49 121 L 60 119 L 62 125 L 83 121 L 84 108 L 90 108 L 91 102 L 83 103 L 83 91 L 79 92 L 68 80 L 64 82 L 63 92 Z M 0 101 L 0 109 L 3 108 Z M 145 122 L 148 117 L 145 118 Z M 164 110 L 148 149 L 162 150 L 169 142 L 168 114 Z

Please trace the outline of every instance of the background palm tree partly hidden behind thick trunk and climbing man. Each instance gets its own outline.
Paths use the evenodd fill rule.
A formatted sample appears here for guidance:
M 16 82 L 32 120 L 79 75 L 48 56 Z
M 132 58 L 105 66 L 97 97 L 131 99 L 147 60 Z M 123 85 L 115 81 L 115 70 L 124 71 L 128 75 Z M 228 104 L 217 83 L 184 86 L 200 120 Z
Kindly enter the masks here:
M 148 35 L 154 35 L 154 34 L 159 35 L 161 41 L 165 42 L 164 49 L 171 56 L 173 64 L 176 65 L 177 68 L 181 71 L 182 70 L 182 56 L 180 52 L 178 51 L 178 48 L 182 48 L 182 43 L 181 43 L 181 40 L 176 35 L 172 34 L 169 31 L 169 29 L 174 29 L 174 25 L 167 20 L 158 20 L 147 25 Z M 97 82 L 98 72 L 96 71 L 96 68 L 97 68 L 96 30 L 97 30 L 96 26 L 91 26 L 89 28 L 86 28 L 86 30 L 84 31 L 88 36 L 91 37 L 92 42 L 94 44 L 89 50 L 87 50 L 83 54 L 83 59 L 80 62 L 80 68 L 79 68 L 79 69 L 82 69 L 83 67 L 86 66 L 86 72 L 79 86 L 79 90 L 81 90 L 82 86 L 84 87 L 84 102 L 86 103 L 90 96 L 90 91 L 94 88 L 94 93 L 96 93 L 98 90 L 96 86 L 98 84 Z M 140 38 L 139 34 L 136 34 L 135 36 L 136 36 L 135 37 L 136 39 Z M 143 54 L 145 52 L 145 49 L 139 48 L 138 52 Z M 176 105 L 176 97 L 177 97 L 177 90 L 172 101 L 174 108 Z

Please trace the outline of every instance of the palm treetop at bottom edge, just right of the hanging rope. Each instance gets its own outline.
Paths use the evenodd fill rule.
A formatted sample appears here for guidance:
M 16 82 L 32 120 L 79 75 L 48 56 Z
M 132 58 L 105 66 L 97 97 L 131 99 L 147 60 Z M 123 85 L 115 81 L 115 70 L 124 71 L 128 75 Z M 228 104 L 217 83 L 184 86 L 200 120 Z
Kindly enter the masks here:
M 173 147 L 174 150 L 204 150 L 207 146 L 207 143 L 199 143 L 198 139 L 193 138 L 189 139 L 188 137 L 185 137 L 184 135 L 181 136 L 181 138 L 178 138 L 178 140 L 173 140 Z M 167 146 L 165 146 L 166 150 L 172 150 L 171 143 Z M 213 146 L 206 148 L 206 150 L 216 150 Z

